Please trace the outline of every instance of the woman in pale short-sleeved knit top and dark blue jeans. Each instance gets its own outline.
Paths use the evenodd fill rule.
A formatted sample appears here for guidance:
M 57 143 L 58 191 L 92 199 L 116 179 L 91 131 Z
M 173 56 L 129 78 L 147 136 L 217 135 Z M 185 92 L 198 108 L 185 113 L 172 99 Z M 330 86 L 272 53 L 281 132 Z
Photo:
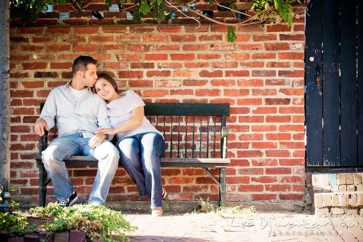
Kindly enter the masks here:
M 107 101 L 107 115 L 112 129 L 99 128 L 96 134 L 115 135 L 120 161 L 136 184 L 141 197 L 149 195 L 151 214 L 162 216 L 162 188 L 160 157 L 165 142 L 144 115 L 144 102 L 134 91 L 117 93 L 117 84 L 107 74 L 100 74 L 94 90 Z

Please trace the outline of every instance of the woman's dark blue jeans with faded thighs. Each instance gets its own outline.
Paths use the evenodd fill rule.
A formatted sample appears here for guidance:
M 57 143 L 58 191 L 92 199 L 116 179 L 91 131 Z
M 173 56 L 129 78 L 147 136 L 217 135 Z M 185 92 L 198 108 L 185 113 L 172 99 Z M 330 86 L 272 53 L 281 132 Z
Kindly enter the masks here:
M 138 134 L 119 140 L 120 161 L 136 184 L 141 197 L 149 195 L 151 208 L 162 207 L 160 157 L 165 142 L 157 133 Z

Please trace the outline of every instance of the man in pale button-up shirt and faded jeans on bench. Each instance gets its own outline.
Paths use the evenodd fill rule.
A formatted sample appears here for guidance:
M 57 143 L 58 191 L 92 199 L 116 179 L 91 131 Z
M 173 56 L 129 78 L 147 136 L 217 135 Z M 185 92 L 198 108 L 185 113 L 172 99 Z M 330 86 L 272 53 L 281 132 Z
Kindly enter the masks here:
M 95 135 L 99 127 L 111 128 L 105 101 L 91 91 L 97 80 L 96 64 L 90 56 L 75 59 L 72 80 L 51 90 L 34 126 L 35 133 L 43 136 L 44 129 L 53 128 L 54 117 L 56 119 L 58 137 L 42 152 L 42 160 L 52 179 L 57 203 L 62 207 L 69 207 L 78 199 L 65 159 L 71 155 L 85 155 L 98 160 L 88 200 L 94 205 L 105 205 L 118 166 L 118 150 L 108 141 L 112 136 Z

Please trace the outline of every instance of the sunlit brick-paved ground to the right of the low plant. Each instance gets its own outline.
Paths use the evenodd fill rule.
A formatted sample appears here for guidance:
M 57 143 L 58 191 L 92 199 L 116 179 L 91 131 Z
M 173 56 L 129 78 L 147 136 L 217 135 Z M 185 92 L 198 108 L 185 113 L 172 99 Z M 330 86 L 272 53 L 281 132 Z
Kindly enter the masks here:
M 257 212 L 225 215 L 171 213 L 152 217 L 127 212 L 139 227 L 131 241 L 363 241 L 363 218 L 318 218 L 305 213 Z

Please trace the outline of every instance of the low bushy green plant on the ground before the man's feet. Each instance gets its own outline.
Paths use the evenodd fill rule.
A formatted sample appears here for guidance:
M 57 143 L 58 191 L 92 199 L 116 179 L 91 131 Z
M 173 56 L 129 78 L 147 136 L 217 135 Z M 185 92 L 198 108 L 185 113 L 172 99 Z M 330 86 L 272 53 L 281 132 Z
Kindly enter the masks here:
M 116 233 L 123 239 L 129 240 L 124 232 L 137 229 L 124 219 L 121 212 L 104 206 L 79 204 L 62 208 L 55 203 L 49 203 L 46 207 L 31 208 L 29 212 L 38 214 L 41 218 L 54 218 L 52 223 L 42 225 L 41 229 L 50 233 L 76 229 L 86 232 L 87 240 L 100 237 L 108 242 L 119 241 L 111 233 Z

